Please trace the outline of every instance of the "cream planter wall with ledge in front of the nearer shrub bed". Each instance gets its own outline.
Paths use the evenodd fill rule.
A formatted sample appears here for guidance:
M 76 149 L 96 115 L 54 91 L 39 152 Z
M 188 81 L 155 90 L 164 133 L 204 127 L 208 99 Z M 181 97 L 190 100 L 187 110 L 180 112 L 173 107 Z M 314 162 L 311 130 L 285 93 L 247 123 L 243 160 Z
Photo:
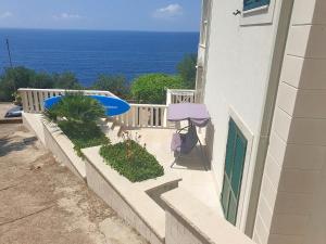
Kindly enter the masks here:
M 108 166 L 99 150 L 100 146 L 82 150 L 86 156 L 88 185 L 148 241 L 164 243 L 165 211 L 139 183 L 131 183 Z

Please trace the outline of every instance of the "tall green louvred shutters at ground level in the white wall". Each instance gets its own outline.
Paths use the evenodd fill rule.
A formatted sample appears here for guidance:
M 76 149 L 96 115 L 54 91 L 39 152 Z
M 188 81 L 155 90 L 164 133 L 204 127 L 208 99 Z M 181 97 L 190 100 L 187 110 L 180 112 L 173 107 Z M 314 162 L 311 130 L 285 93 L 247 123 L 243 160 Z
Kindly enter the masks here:
M 237 222 L 247 144 L 247 139 L 230 118 L 221 202 L 225 218 L 233 224 Z

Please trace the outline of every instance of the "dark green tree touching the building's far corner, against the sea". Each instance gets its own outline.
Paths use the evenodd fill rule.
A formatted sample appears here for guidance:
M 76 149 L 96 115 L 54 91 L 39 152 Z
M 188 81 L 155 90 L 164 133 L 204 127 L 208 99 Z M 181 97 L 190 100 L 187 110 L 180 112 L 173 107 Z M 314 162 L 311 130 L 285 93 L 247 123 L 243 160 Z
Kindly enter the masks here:
M 177 65 L 178 74 L 181 76 L 184 85 L 188 89 L 195 89 L 196 87 L 196 54 L 186 54 Z

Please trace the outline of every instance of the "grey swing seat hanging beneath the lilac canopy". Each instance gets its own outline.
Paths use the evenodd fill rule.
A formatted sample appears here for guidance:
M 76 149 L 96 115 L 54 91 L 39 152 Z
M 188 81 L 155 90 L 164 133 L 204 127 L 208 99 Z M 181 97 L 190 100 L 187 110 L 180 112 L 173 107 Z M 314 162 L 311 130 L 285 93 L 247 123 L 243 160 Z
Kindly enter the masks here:
M 181 133 L 184 130 L 188 129 L 186 133 Z M 198 138 L 197 129 L 193 124 L 177 130 L 172 137 L 171 150 L 174 152 L 175 159 L 171 165 L 171 168 L 175 165 L 176 160 L 183 156 L 189 154 L 197 143 L 200 143 L 201 154 L 204 156 L 202 144 Z M 206 170 L 206 167 L 204 165 Z

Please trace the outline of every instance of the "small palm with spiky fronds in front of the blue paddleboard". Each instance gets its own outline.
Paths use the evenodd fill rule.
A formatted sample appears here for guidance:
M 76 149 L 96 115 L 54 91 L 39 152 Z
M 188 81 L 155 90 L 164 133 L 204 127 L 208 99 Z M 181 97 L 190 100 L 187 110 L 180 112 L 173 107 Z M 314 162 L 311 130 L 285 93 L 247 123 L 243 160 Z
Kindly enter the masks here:
M 51 120 L 64 118 L 70 123 L 89 124 L 104 117 L 105 111 L 97 100 L 77 92 L 66 93 L 46 115 Z

